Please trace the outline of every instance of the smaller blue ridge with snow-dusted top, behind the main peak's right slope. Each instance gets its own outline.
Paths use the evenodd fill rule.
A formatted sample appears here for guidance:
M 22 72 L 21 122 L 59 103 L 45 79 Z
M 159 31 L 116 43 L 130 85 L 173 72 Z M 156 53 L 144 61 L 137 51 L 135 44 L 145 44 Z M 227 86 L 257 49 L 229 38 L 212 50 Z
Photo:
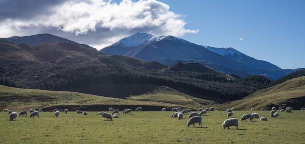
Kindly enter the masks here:
M 239 63 L 246 64 L 246 65 L 251 66 L 256 69 L 281 70 L 281 68 L 279 68 L 276 65 L 273 65 L 266 61 L 254 59 L 233 48 L 214 48 L 214 47 L 209 47 L 209 46 L 203 46 L 203 47 L 206 48 L 207 50 L 220 54 L 228 59 L 237 61 Z

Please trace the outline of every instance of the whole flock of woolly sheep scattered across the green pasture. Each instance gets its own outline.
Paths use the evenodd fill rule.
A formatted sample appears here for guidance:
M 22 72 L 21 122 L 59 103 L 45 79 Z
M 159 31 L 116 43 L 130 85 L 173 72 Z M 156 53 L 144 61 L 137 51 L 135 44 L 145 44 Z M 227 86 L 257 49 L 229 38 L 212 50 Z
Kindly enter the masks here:
M 198 112 L 192 112 L 192 109 L 181 109 L 181 108 L 172 108 L 173 113 L 171 114 L 171 118 L 178 118 L 178 120 L 183 119 L 183 115 L 184 114 L 189 114 L 189 120 L 187 122 L 187 126 L 193 125 L 196 126 L 196 123 L 199 123 L 198 126 L 202 127 L 202 115 L 206 115 L 208 111 L 214 111 L 215 108 L 214 107 L 210 107 L 210 108 L 199 108 L 197 111 Z M 227 117 L 228 119 L 226 119 L 223 123 L 222 126 L 223 128 L 230 128 L 230 126 L 236 126 L 236 128 L 238 129 L 238 119 L 237 118 L 231 118 L 233 116 L 233 111 L 235 110 L 234 107 L 232 107 L 231 109 L 227 109 Z M 253 108 L 251 108 L 251 111 L 253 110 Z M 266 108 L 261 108 L 260 110 L 266 110 Z M 285 111 L 285 112 L 292 112 L 292 108 L 291 107 L 286 107 L 285 110 L 282 107 L 279 107 L 278 110 L 276 110 L 275 107 L 271 108 L 270 111 L 270 117 L 274 117 L 276 118 L 277 116 L 279 116 L 279 112 Z M 301 108 L 301 110 L 305 110 L 305 107 Z M 42 109 L 37 107 L 35 109 L 30 109 L 30 118 L 34 118 L 34 116 L 39 117 L 39 112 L 42 112 Z M 62 109 L 54 109 L 54 115 L 55 117 L 58 117 L 60 114 L 60 111 L 64 111 L 66 114 L 68 113 L 68 109 L 62 110 Z M 142 107 L 137 107 L 135 109 L 135 111 L 142 111 Z M 163 108 L 162 111 L 166 111 L 166 108 Z M 8 112 L 9 113 L 9 119 L 10 120 L 14 120 L 17 118 L 18 113 L 15 111 L 11 111 L 8 109 L 5 109 L 4 112 Z M 109 113 L 108 113 L 109 112 Z M 109 108 L 109 111 L 105 112 L 105 111 L 101 111 L 98 114 L 102 116 L 103 120 L 105 120 L 105 118 L 107 120 L 112 120 L 112 118 L 118 118 L 119 117 L 119 109 L 113 109 L 113 108 Z M 111 114 L 110 114 L 111 112 Z M 80 113 L 83 115 L 88 115 L 88 113 L 86 111 L 81 111 L 81 110 L 76 110 L 76 113 Z M 131 109 L 124 109 L 122 111 L 123 114 L 132 114 L 132 110 Z M 19 116 L 28 116 L 28 111 L 23 110 L 19 113 Z M 250 114 L 244 114 L 241 116 L 240 120 L 241 121 L 246 121 L 247 119 L 249 119 L 250 121 L 252 121 L 255 118 L 259 118 L 258 113 L 253 112 Z M 260 117 L 260 120 L 267 120 L 266 117 Z

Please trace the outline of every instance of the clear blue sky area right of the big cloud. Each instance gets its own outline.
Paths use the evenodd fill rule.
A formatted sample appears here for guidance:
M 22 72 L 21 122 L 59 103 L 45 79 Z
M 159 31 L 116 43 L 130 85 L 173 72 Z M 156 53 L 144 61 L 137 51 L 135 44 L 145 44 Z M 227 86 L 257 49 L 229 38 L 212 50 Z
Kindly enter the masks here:
M 186 15 L 187 29 L 199 29 L 182 37 L 188 41 L 233 47 L 283 69 L 305 68 L 305 1 L 160 2 Z

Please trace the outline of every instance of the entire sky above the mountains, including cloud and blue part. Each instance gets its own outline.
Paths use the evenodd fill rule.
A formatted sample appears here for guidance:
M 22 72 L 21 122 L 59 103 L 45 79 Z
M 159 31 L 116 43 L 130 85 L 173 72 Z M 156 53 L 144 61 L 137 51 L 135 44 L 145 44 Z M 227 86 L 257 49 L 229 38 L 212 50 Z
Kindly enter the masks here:
M 0 0 L 0 38 L 50 33 L 96 49 L 136 32 L 305 68 L 305 1 Z

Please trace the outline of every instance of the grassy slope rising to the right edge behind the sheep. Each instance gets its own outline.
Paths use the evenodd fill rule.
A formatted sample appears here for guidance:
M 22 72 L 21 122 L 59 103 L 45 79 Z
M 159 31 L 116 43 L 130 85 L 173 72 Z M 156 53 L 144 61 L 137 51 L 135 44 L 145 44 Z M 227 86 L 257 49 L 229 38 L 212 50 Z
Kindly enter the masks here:
M 300 109 L 305 106 L 305 76 L 293 78 L 267 89 L 257 91 L 245 98 L 223 103 L 220 109 L 259 109 L 271 106 L 291 106 Z

